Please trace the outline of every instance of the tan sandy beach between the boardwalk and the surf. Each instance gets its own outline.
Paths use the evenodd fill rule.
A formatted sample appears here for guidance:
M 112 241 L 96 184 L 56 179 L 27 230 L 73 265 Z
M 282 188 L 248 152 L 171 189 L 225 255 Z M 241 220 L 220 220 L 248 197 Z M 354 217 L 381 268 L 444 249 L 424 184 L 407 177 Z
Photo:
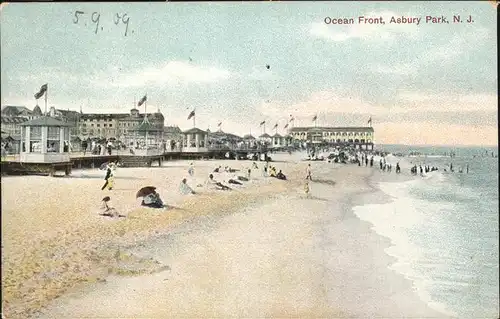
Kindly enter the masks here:
M 312 162 L 312 198 L 305 198 L 301 156 L 273 156 L 288 181 L 259 169 L 230 192 L 195 186 L 218 165 L 243 169 L 250 161 L 195 161 L 194 178 L 188 161 L 118 168 L 112 191 L 100 190 L 98 170 L 2 178 L 3 313 L 443 317 L 387 268 L 387 239 L 352 213 L 356 201 L 383 200 L 368 183 L 375 169 Z M 199 194 L 179 195 L 184 177 Z M 139 206 L 135 192 L 148 185 L 169 209 Z M 106 195 L 127 218 L 97 215 Z

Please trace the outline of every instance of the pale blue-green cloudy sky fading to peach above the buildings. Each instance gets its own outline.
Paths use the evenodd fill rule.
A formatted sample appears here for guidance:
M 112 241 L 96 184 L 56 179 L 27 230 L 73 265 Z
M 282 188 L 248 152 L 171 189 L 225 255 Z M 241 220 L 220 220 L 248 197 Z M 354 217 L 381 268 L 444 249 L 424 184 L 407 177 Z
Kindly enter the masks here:
M 378 144 L 498 145 L 491 1 L 3 4 L 0 31 L 2 106 L 33 109 L 48 83 L 49 107 L 125 113 L 147 94 L 182 129 L 193 109 L 240 135 L 371 117 Z

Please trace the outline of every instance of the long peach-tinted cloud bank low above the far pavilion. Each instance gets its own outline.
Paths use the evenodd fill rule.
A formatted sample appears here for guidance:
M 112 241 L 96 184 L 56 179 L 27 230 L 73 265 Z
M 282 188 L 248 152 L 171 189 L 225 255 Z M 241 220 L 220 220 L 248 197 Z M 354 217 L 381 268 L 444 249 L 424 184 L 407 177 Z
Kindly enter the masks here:
M 319 91 L 302 101 L 287 104 L 281 101 L 262 102 L 256 106 L 259 120 L 285 120 L 292 114 L 298 122 L 309 125 L 314 115 L 333 125 L 364 125 L 369 116 L 390 122 L 427 121 L 433 123 L 491 126 L 492 120 L 482 113 L 497 110 L 495 94 L 427 94 L 401 92 L 384 105 L 370 103 L 348 90 Z M 296 123 L 297 124 L 297 123 Z

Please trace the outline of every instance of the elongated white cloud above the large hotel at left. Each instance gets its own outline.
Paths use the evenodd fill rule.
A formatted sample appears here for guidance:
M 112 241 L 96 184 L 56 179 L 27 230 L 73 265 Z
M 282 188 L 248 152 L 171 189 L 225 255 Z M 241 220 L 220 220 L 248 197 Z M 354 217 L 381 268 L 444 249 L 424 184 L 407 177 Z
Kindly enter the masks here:
M 231 73 L 215 67 L 202 67 L 182 61 L 169 61 L 159 66 L 151 66 L 130 73 L 121 69 L 111 69 L 108 74 L 99 74 L 98 81 L 104 86 L 145 87 L 166 84 L 214 83 L 229 79 Z

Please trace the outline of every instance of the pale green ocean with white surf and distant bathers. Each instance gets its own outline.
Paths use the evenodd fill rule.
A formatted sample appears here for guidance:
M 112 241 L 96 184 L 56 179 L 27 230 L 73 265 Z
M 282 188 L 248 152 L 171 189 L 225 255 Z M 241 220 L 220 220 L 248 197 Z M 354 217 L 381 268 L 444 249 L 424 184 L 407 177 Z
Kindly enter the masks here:
M 390 158 L 389 163 L 400 161 L 408 179 L 375 184 L 390 203 L 354 208 L 375 232 L 391 240 L 386 252 L 397 261 L 390 268 L 410 279 L 435 310 L 458 318 L 498 318 L 498 158 L 491 156 L 498 155 L 498 148 L 379 149 L 432 154 Z M 443 156 L 450 152 L 455 157 Z M 439 171 L 411 176 L 413 164 L 437 166 Z M 460 168 L 464 173 L 458 173 Z

